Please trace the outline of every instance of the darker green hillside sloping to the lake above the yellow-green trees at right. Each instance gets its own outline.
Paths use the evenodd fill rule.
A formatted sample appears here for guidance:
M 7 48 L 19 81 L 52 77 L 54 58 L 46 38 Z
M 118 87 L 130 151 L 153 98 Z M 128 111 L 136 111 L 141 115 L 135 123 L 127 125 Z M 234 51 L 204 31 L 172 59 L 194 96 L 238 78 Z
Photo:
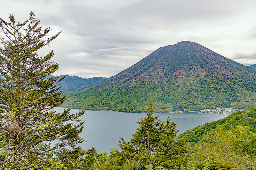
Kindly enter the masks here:
M 202 139 L 203 135 L 209 135 L 212 129 L 215 129 L 217 125 L 224 130 L 229 130 L 231 127 L 237 126 L 250 126 L 250 131 L 256 132 L 256 106 L 243 110 L 241 112 L 233 113 L 218 121 L 206 123 L 201 126 L 197 126 L 193 129 L 179 135 L 183 137 L 185 134 L 188 136 L 188 142 L 198 142 Z

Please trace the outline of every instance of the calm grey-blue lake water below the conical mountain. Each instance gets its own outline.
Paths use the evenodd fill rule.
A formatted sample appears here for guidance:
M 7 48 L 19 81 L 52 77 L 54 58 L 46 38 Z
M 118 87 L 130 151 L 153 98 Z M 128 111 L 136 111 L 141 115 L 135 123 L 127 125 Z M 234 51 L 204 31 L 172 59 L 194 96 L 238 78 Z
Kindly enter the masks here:
M 54 110 L 62 112 L 64 108 L 56 107 Z M 79 111 L 78 109 L 71 109 L 70 113 Z M 98 152 L 109 152 L 112 148 L 118 149 L 117 140 L 119 140 L 119 137 L 122 136 L 125 140 L 130 139 L 131 134 L 139 127 L 136 122 L 145 115 L 145 113 L 87 110 L 80 117 L 82 121 L 85 120 L 84 129 L 80 136 L 87 141 L 84 141 L 81 145 L 84 149 L 96 145 Z M 170 116 L 172 121 L 177 123 L 177 129 L 180 129 L 179 134 L 206 122 L 222 119 L 228 114 L 187 112 L 155 113 L 154 116 L 160 116 L 163 121 Z

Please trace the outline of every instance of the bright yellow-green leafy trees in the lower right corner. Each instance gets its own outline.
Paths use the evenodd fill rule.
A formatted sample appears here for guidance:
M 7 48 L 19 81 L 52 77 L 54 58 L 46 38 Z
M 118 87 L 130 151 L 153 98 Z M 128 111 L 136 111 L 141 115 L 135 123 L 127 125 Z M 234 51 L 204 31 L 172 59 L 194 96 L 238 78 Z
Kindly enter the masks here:
M 205 158 L 210 158 L 209 169 L 255 169 L 255 134 L 248 126 L 230 130 L 217 126 L 210 136 L 199 141 L 196 167 L 204 167 Z

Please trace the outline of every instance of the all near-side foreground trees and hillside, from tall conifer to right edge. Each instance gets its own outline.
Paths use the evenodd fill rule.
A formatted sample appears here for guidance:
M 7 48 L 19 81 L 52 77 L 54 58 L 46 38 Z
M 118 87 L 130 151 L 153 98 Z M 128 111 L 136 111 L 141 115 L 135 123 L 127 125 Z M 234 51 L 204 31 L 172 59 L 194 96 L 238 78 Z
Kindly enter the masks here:
M 120 137 L 119 148 L 109 153 L 84 150 L 79 117 L 85 110 L 52 110 L 66 100 L 57 87 L 63 78 L 45 78 L 59 68 L 53 50 L 37 54 L 61 32 L 45 38 L 51 28 L 39 23 L 32 11 L 23 22 L 0 18 L 1 170 L 256 169 L 256 106 L 177 136 L 176 123 L 154 116 L 149 101 L 130 140 Z

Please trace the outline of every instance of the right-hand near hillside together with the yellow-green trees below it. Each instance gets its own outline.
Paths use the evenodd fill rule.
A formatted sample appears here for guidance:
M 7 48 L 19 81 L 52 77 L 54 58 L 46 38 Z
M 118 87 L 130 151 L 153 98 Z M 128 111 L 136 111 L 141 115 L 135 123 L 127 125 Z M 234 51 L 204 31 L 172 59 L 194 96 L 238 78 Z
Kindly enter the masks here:
M 194 168 L 202 169 L 206 158 L 210 158 L 209 170 L 255 170 L 256 120 L 247 115 L 253 109 L 234 113 L 185 132 L 188 140 L 199 141 L 194 145 L 194 149 L 199 151 L 196 153 Z

